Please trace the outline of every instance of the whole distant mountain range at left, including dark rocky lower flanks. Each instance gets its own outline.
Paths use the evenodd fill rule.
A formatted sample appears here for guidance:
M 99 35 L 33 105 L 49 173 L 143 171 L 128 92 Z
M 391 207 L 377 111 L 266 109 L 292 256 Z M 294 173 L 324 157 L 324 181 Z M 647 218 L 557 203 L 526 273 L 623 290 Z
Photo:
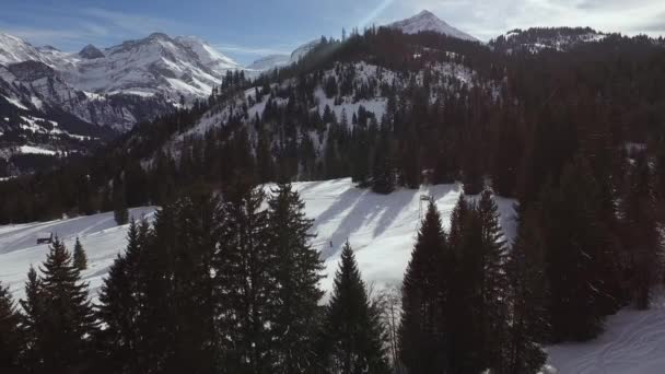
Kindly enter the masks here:
M 0 156 L 25 147 L 84 152 L 173 112 L 182 97 L 205 100 L 226 71 L 241 69 L 197 37 L 155 33 L 63 52 L 0 34 Z

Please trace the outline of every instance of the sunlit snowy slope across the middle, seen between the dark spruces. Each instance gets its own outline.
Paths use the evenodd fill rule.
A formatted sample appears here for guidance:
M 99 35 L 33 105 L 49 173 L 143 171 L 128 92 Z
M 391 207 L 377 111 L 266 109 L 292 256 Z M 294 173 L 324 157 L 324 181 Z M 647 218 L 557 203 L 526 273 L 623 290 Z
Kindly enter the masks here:
M 312 232 L 316 237 L 312 243 L 326 260 L 327 278 L 323 281 L 326 290 L 331 289 L 339 254 L 347 239 L 357 253 L 368 283 L 377 287 L 399 284 L 416 239 L 420 196 L 434 197 L 447 226 L 460 192 L 458 185 L 442 185 L 397 190 L 385 196 L 354 188 L 350 179 L 296 183 L 294 187 L 305 201 L 307 217 L 315 219 Z M 512 238 L 514 200 L 498 198 L 498 203 L 502 212 L 501 224 Z M 423 204 L 422 210 L 425 208 Z M 153 211 L 153 208 L 132 209 L 130 215 L 151 218 Z M 47 245 L 35 245 L 37 234 L 51 232 L 65 238 L 69 248 L 75 236 L 80 237 L 90 264 L 83 277 L 95 292 L 118 250 L 126 245 L 127 226 L 116 226 L 113 213 L 0 226 L 0 280 L 10 287 L 15 297 L 23 296 L 30 265 L 39 265 L 48 250 Z

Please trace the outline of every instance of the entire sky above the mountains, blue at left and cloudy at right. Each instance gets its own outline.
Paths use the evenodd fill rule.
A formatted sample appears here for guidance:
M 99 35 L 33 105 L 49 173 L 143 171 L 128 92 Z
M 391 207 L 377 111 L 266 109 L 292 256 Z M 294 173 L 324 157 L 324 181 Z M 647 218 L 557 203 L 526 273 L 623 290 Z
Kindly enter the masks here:
M 480 39 L 515 27 L 586 26 L 665 35 L 665 1 L 631 0 L 2 0 L 0 32 L 74 51 L 152 32 L 196 35 L 243 63 L 342 27 L 428 9 Z

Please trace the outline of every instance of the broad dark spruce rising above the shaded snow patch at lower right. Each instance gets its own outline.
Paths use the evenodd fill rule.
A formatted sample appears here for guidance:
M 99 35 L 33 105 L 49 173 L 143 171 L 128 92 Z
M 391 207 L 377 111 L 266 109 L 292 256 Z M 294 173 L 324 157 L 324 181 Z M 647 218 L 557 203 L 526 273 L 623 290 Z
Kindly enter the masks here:
M 542 192 L 553 341 L 595 337 L 616 302 L 607 289 L 615 259 L 598 196 L 588 163 L 580 156 L 564 167 L 558 188 Z

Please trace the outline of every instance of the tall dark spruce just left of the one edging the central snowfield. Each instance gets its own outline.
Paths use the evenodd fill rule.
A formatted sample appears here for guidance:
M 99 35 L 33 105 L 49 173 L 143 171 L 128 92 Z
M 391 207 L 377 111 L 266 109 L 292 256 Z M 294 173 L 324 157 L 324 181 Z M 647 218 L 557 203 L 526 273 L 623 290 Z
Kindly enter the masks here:
M 276 284 L 269 269 L 275 255 L 267 245 L 267 212 L 260 207 L 264 192 L 236 183 L 225 194 L 215 273 L 217 329 L 221 337 L 224 370 L 228 373 L 269 373 L 275 359 L 270 297 Z

